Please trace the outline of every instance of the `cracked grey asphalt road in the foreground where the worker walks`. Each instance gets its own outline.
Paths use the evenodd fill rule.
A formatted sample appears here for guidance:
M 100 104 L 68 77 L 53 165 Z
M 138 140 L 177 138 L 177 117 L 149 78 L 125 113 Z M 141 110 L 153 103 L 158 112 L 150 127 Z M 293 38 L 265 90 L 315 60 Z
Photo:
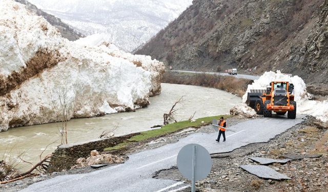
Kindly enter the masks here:
M 229 119 L 227 121 L 229 123 Z M 200 144 L 211 154 L 231 152 L 250 143 L 267 142 L 302 121 L 300 116 L 287 119 L 286 115 L 248 120 L 231 126 L 236 132 L 227 131 L 227 141 L 220 143 L 215 141 L 217 132 L 195 133 L 177 143 L 133 154 L 124 164 L 88 174 L 57 176 L 34 183 L 22 191 L 178 191 L 189 186 L 172 180 L 153 179 L 152 174 L 176 165 L 177 154 L 186 144 Z

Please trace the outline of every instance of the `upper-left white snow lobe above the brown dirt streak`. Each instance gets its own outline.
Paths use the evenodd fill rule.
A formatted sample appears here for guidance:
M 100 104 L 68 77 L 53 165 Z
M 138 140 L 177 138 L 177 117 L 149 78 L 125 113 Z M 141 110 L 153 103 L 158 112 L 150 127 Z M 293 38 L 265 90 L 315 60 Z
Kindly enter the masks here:
M 61 48 L 56 28 L 23 5 L 0 1 L 0 11 L 0 76 L 7 77 L 26 67 L 26 62 L 40 49 L 55 55 L 55 50 Z

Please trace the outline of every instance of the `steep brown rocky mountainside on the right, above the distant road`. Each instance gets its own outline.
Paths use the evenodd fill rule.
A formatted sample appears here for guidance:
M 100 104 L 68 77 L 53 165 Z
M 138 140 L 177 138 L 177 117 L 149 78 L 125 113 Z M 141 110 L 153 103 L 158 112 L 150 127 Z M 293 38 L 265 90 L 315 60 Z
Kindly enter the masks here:
M 134 53 L 151 55 L 174 69 L 281 70 L 324 83 L 327 7 L 327 0 L 193 1 Z

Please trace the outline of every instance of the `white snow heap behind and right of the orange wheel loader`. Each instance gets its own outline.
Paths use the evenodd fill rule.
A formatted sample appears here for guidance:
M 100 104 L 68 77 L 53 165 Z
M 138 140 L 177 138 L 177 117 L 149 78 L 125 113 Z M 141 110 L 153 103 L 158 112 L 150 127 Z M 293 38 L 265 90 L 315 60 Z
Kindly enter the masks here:
M 259 79 L 248 86 L 247 92 L 242 97 L 242 102 L 247 100 L 247 93 L 251 89 L 267 89 L 272 81 L 289 81 L 294 84 L 295 101 L 297 102 L 297 113 L 312 115 L 322 121 L 328 120 L 328 100 L 313 101 L 311 94 L 306 92 L 306 85 L 302 78 L 298 76 L 289 76 L 280 71 L 265 72 Z

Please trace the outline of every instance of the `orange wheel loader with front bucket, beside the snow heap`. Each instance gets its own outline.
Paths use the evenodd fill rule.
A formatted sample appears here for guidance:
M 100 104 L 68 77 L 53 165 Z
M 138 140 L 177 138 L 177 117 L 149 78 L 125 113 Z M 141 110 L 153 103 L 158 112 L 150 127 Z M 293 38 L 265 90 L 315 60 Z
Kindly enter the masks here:
M 289 119 L 296 118 L 294 85 L 286 81 L 273 81 L 267 90 L 251 90 L 246 103 L 264 117 L 271 117 L 272 112 L 275 112 L 277 115 L 288 113 Z

